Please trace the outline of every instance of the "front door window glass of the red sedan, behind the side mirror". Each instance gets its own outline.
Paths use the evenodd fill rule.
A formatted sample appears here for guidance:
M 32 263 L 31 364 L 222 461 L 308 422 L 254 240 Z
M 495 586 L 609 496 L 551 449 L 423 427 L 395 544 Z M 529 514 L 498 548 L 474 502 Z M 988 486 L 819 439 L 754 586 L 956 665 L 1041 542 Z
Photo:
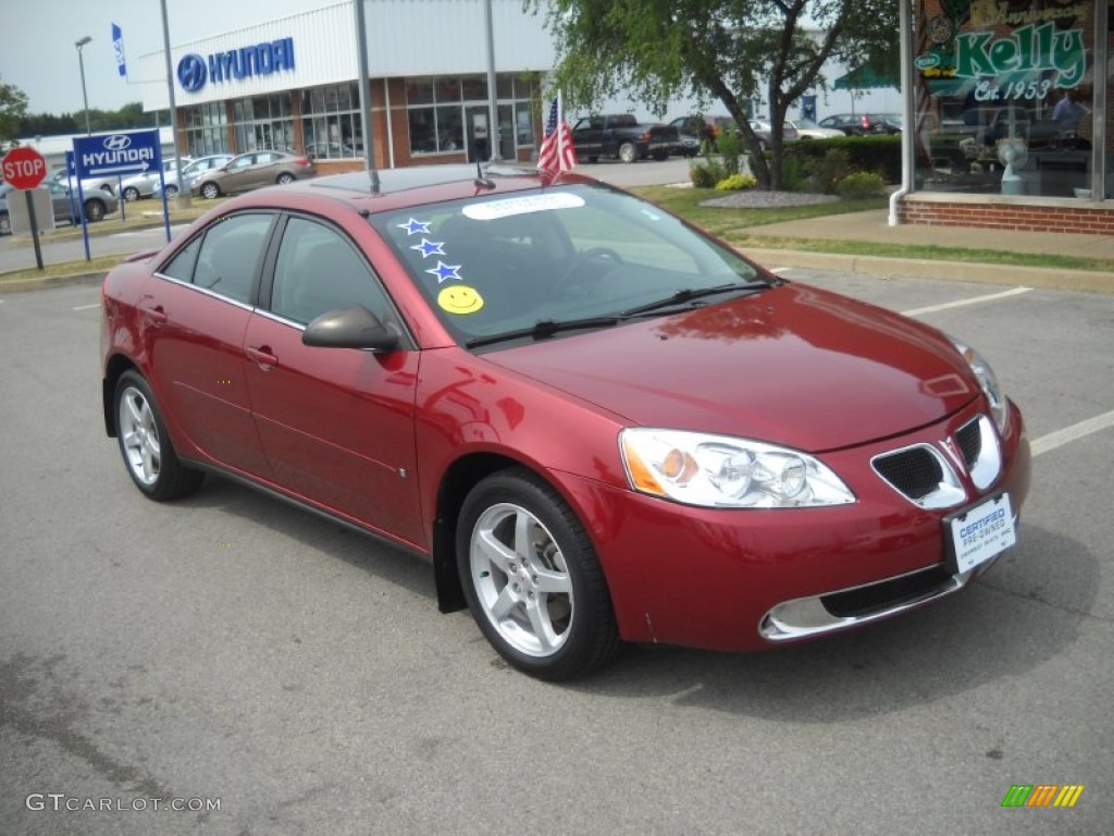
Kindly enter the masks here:
M 387 297 L 349 240 L 324 224 L 292 217 L 275 262 L 271 312 L 304 325 L 354 304 L 387 319 Z

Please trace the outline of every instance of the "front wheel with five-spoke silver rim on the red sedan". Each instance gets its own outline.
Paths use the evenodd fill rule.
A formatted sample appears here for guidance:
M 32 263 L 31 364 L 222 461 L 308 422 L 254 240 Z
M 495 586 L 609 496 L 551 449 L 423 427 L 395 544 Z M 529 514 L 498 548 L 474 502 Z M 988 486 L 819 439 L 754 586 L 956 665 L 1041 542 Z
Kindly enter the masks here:
M 468 494 L 457 565 L 480 631 L 524 673 L 577 679 L 623 648 L 592 541 L 560 495 L 528 470 L 496 473 Z

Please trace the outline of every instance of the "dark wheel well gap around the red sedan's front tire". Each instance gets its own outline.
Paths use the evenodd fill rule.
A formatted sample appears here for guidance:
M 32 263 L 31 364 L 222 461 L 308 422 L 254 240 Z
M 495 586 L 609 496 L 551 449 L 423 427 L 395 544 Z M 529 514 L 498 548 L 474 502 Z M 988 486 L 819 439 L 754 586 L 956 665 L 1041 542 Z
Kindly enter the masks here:
M 508 467 L 522 466 L 506 456 L 477 453 L 452 463 L 437 492 L 437 518 L 433 521 L 433 576 L 437 581 L 437 605 L 441 612 L 456 612 L 468 606 L 460 574 L 457 572 L 457 519 L 468 492 L 480 479 Z

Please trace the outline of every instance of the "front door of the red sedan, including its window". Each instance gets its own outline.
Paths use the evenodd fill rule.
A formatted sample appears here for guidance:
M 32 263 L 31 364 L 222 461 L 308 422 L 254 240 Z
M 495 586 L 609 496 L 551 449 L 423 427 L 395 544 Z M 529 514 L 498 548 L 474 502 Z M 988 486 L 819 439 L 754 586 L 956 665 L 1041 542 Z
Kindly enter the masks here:
M 348 235 L 291 216 L 274 255 L 267 304 L 244 338 L 246 379 L 276 482 L 332 512 L 424 545 L 414 448 L 420 354 L 309 347 L 305 324 L 362 304 L 399 325 L 371 265 Z

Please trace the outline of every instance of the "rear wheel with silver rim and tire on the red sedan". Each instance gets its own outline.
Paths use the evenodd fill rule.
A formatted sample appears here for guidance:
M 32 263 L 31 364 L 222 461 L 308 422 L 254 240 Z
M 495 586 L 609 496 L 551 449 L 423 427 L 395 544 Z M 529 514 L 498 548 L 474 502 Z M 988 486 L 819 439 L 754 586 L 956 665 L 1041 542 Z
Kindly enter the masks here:
M 120 375 L 113 408 L 124 466 L 144 496 L 166 502 L 192 494 L 201 486 L 205 474 L 178 460 L 155 396 L 140 375 L 135 371 Z

